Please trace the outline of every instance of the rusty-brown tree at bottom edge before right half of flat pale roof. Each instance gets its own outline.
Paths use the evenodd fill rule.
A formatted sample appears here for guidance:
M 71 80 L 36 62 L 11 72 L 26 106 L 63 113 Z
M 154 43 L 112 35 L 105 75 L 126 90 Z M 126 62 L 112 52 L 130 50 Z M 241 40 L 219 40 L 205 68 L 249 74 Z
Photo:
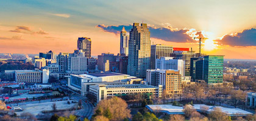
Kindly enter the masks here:
M 222 113 L 221 108 L 214 108 L 214 110 L 208 115 L 210 120 L 229 120 L 229 116 Z

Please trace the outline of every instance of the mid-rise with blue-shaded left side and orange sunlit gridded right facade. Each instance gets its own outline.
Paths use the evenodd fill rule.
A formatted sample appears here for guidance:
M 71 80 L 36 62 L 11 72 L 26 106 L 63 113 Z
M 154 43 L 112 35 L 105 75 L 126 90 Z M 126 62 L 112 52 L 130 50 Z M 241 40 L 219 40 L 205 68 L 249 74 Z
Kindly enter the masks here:
M 149 85 L 163 85 L 167 96 L 179 95 L 182 91 L 182 78 L 179 70 L 147 70 L 146 81 Z

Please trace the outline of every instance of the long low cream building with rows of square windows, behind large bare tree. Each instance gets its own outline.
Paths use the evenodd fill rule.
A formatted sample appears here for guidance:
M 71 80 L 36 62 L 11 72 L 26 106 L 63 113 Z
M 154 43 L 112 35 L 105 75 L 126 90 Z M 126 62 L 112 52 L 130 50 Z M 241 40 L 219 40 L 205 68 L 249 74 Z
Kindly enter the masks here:
M 158 87 L 142 84 L 127 85 L 93 85 L 90 87 L 90 94 L 97 102 L 113 96 L 125 96 L 126 94 L 146 94 L 148 97 L 161 97 L 162 85 Z

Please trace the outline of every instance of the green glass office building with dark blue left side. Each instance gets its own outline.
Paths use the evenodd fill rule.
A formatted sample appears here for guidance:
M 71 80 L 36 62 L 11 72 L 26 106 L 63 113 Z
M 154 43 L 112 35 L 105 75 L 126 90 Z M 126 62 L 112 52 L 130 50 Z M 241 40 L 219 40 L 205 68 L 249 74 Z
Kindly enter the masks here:
M 196 79 L 208 84 L 223 82 L 224 56 L 209 55 L 196 61 Z

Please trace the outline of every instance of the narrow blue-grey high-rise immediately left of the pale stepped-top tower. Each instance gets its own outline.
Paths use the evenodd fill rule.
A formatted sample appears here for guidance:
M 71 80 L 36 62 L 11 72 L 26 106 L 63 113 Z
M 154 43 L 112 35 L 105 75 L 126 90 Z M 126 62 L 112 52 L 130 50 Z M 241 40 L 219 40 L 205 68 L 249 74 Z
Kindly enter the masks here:
M 68 70 L 68 54 L 69 53 L 60 53 L 57 56 L 57 65 L 59 65 L 59 72 L 65 73 Z

